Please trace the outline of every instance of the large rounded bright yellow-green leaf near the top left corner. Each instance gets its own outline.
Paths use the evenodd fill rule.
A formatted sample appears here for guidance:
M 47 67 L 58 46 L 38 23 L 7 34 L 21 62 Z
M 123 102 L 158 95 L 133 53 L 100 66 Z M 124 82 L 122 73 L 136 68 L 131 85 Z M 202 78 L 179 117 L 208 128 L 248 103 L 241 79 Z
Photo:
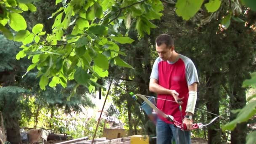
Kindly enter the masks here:
M 9 13 L 9 17 L 10 17 L 9 25 L 16 32 L 27 28 L 27 23 L 25 19 L 19 13 Z

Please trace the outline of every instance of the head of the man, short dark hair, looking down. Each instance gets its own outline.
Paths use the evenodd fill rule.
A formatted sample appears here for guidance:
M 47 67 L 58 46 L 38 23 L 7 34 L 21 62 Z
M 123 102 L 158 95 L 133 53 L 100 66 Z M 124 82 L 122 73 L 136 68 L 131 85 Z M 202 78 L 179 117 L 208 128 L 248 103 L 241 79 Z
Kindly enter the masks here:
M 170 60 L 174 50 L 174 41 L 170 35 L 161 34 L 155 40 L 155 48 L 163 61 Z

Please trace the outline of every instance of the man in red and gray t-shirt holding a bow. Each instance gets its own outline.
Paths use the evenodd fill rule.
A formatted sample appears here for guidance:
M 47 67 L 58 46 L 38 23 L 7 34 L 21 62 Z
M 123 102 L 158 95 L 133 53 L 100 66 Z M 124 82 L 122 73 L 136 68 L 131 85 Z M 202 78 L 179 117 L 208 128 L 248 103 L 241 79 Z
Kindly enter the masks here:
M 157 93 L 157 98 L 160 98 L 157 99 L 157 108 L 167 115 L 172 115 L 178 122 L 186 124 L 188 130 L 182 131 L 172 122 L 159 116 L 157 144 L 171 144 L 173 138 L 176 144 L 190 144 L 189 130 L 192 129 L 192 115 L 199 83 L 197 70 L 189 58 L 176 53 L 170 35 L 159 35 L 155 43 L 159 57 L 152 68 L 149 91 Z M 181 112 L 179 105 L 182 107 Z

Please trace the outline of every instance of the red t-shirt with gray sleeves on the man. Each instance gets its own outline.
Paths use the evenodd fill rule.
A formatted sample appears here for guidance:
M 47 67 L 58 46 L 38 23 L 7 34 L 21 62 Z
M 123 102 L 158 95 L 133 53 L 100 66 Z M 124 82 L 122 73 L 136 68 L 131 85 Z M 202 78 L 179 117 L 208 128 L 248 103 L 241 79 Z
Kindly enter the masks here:
M 181 123 L 184 115 L 186 114 L 185 110 L 187 107 L 188 99 L 188 85 L 192 83 L 199 83 L 197 70 L 193 62 L 186 56 L 179 55 L 177 61 L 171 63 L 170 61 L 163 61 L 160 58 L 157 58 L 152 69 L 150 78 L 155 78 L 158 80 L 158 84 L 164 88 L 177 91 L 179 93 L 179 98 L 184 96 L 183 104 L 181 105 L 181 112 L 179 110 L 179 104 L 177 104 L 172 95 L 158 94 L 157 98 L 157 108 L 163 111 L 167 115 L 172 115 L 175 120 Z M 165 100 L 162 100 L 165 99 Z M 166 101 L 170 100 L 170 101 Z M 171 123 L 163 117 L 160 117 L 161 120 L 166 123 Z

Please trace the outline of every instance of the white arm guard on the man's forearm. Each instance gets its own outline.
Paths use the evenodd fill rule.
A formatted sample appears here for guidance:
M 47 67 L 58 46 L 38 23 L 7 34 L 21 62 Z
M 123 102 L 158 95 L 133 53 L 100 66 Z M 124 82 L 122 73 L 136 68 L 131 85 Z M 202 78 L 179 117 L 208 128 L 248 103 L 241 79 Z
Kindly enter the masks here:
M 186 112 L 190 112 L 194 114 L 196 102 L 197 102 L 197 92 L 189 91 L 189 98 L 187 100 Z

